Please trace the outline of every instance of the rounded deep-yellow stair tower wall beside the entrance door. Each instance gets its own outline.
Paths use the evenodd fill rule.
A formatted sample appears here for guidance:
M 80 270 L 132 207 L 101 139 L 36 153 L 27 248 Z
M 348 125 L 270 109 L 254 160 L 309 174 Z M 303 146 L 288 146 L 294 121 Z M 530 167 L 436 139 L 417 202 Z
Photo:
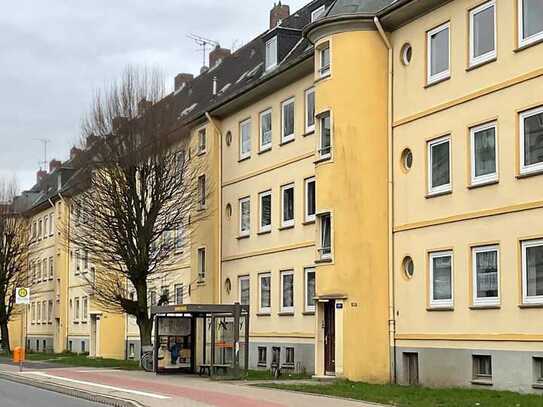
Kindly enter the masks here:
M 332 73 L 316 84 L 316 100 L 317 113 L 331 109 L 332 160 L 316 167 L 317 211 L 331 212 L 333 261 L 317 267 L 317 294 L 347 297 L 336 310 L 338 373 L 386 382 L 387 50 L 376 31 L 335 34 L 317 48 L 326 40 Z

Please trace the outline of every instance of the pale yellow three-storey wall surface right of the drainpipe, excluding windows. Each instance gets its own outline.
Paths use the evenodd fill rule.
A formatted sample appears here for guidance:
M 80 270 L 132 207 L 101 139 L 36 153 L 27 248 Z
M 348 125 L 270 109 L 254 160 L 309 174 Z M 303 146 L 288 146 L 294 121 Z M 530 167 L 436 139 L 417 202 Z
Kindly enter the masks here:
M 459 335 L 458 341 L 454 342 L 457 347 L 496 349 L 504 346 L 524 349 L 524 346 L 532 345 L 483 340 L 495 339 L 495 335 L 505 335 L 511 341 L 543 340 L 537 330 L 539 311 L 519 308 L 519 239 L 543 233 L 542 210 L 530 209 L 542 206 L 543 177 L 516 177 L 519 173 L 518 112 L 543 105 L 540 91 L 543 86 L 543 72 L 540 72 L 543 46 L 514 52 L 517 47 L 517 2 L 498 0 L 498 59 L 466 71 L 467 13 L 472 6 L 481 3 L 451 2 L 392 34 L 396 121 L 393 146 L 394 273 L 399 345 L 449 346 L 450 343 L 442 341 L 440 335 L 446 338 Z M 447 20 L 451 21 L 452 77 L 425 89 L 426 31 Z M 400 63 L 399 53 L 405 42 L 413 46 L 409 66 Z M 522 75 L 525 76 L 521 81 Z M 430 114 L 431 109 L 446 102 L 450 103 L 442 107 L 445 110 Z M 412 116 L 417 114 L 419 116 Z M 497 121 L 499 183 L 470 189 L 469 128 L 493 120 Z M 452 193 L 426 198 L 427 141 L 445 134 L 451 136 Z M 400 162 L 406 147 L 413 152 L 413 167 L 408 172 L 402 169 Z M 499 244 L 500 248 L 501 308 L 471 310 L 470 245 L 489 242 Z M 442 248 L 454 251 L 454 311 L 429 312 L 426 310 L 429 296 L 427 252 Z M 412 280 L 407 280 L 401 270 L 402 260 L 407 255 L 415 264 Z M 440 341 L 432 342 L 432 338 Z M 477 345 L 469 341 L 475 341 Z

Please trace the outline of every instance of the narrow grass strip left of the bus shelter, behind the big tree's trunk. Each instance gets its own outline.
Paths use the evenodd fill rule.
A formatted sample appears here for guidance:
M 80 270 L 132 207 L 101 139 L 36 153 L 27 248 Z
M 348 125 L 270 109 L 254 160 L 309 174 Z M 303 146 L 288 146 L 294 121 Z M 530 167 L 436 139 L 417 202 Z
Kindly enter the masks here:
M 67 366 L 115 368 L 121 370 L 140 369 L 139 362 L 136 360 L 89 358 L 87 355 L 77 355 L 73 353 L 28 353 L 26 355 L 26 360 L 58 363 Z

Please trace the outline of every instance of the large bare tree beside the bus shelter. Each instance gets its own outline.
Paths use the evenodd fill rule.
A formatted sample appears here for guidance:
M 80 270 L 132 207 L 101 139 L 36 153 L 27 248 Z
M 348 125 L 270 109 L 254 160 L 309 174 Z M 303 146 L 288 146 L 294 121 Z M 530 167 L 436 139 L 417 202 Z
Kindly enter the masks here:
M 172 131 L 177 117 L 157 71 L 127 68 L 97 93 L 83 124 L 75 176 L 82 187 L 64 228 L 95 267 L 88 277 L 94 300 L 134 316 L 142 346 L 151 344 L 148 283 L 168 273 L 174 246 L 188 244 L 191 213 L 202 213 L 196 209 L 209 194 L 199 179 L 206 164 L 191 158 L 188 131 Z

